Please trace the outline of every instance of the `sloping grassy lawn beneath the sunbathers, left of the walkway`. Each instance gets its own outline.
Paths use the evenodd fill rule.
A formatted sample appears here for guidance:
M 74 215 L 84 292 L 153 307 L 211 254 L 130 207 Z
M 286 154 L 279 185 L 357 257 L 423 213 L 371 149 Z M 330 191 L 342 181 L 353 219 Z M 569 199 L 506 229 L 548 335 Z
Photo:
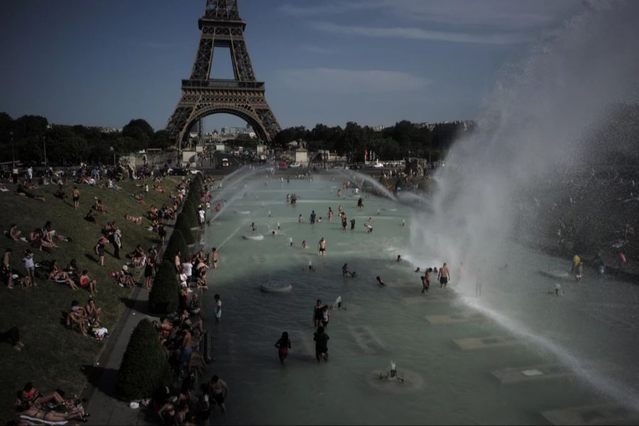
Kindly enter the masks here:
M 141 244 L 145 251 L 158 244 L 156 234 L 148 231 L 150 221 L 147 209 L 151 204 L 158 207 L 172 204 L 169 192 L 179 180 L 180 178 L 165 179 L 163 186 L 167 192 L 160 194 L 151 190 L 146 197 L 146 204 L 139 204 L 129 197 L 129 194 L 141 190 L 133 181 L 120 182 L 123 186 L 120 191 L 77 185 L 80 190 L 78 210 L 72 207 L 70 199 L 62 201 L 53 196 L 56 185 L 31 190 L 46 198 L 45 202 L 40 202 L 14 195 L 16 185 L 7 184 L 6 187 L 11 192 L 0 192 L 1 231 L 9 230 L 10 224 L 16 223 L 23 234 L 28 234 L 50 220 L 52 229 L 70 237 L 72 241 L 57 241 L 58 248 L 47 253 L 33 249 L 23 241 L 13 242 L 3 234 L 0 235 L 0 251 L 4 253 L 6 248 L 11 247 L 11 267 L 21 273 L 23 251 L 29 248 L 35 253 L 36 263 L 56 259 L 58 266 L 65 268 L 75 258 L 80 271 L 87 269 L 89 277 L 97 280 L 96 305 L 102 307 L 102 324 L 111 332 L 124 310 L 124 300 L 129 298 L 132 290 L 120 288 L 108 274 L 119 270 L 128 261 L 124 256 L 133 251 L 137 244 Z M 67 185 L 65 190 L 70 195 L 72 185 Z M 83 218 L 94 197 L 107 205 L 108 214 L 98 213 L 97 222 L 90 223 Z M 127 213 L 143 216 L 142 224 L 124 219 L 124 214 Z M 122 231 L 122 259 L 117 260 L 111 256 L 113 248 L 109 244 L 102 267 L 97 264 L 93 246 L 104 225 L 112 220 L 116 221 Z M 134 271 L 137 277 L 141 277 L 142 272 L 142 268 Z M 67 396 L 79 394 L 85 382 L 82 367 L 94 364 L 106 344 L 92 337 L 83 337 L 75 330 L 67 330 L 62 321 L 62 312 L 68 312 L 72 300 L 86 305 L 89 297 L 87 290 L 74 291 L 66 284 L 43 279 L 36 279 L 36 283 L 38 286 L 30 290 L 21 290 L 17 286 L 9 290 L 4 283 L 0 286 L 0 331 L 18 327 L 25 345 L 18 352 L 10 344 L 0 344 L 0 359 L 4 361 L 3 368 L 0 368 L 0 424 L 13 418 L 13 398 L 27 381 L 33 381 L 40 391 L 60 388 Z

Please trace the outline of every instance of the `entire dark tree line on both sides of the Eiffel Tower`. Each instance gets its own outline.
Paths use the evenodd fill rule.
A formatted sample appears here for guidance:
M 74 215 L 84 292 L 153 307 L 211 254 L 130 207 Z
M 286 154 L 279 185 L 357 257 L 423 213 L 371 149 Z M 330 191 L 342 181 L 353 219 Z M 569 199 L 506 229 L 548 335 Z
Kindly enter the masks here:
M 289 127 L 273 139 L 274 146 L 286 147 L 291 141 L 305 141 L 309 151 L 329 150 L 344 155 L 349 163 L 364 160 L 364 151 L 374 151 L 380 160 L 406 157 L 444 158 L 460 133 L 471 131 L 474 124 L 461 122 L 422 126 L 399 121 L 394 126 L 375 131 L 349 121 L 342 129 L 317 124 L 313 129 Z M 247 142 L 247 141 L 243 141 Z M 165 130 L 155 131 L 147 121 L 133 119 L 122 131 L 107 132 L 96 127 L 50 124 L 43 116 L 25 115 L 17 119 L 0 112 L 0 163 L 13 159 L 23 164 L 77 165 L 112 164 L 114 155 L 126 155 L 146 148 L 168 148 L 175 141 Z

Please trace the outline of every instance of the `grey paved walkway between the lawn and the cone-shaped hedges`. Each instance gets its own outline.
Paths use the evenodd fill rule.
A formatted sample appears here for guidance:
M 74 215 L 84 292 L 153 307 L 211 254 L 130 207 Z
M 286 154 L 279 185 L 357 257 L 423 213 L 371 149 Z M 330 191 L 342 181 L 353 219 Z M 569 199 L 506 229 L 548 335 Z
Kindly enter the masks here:
M 167 227 L 165 241 L 170 239 L 173 226 Z M 200 234 L 198 231 L 196 234 Z M 197 235 L 194 251 L 200 250 L 204 234 Z M 163 251 L 159 256 L 163 256 Z M 147 315 L 148 290 L 136 288 L 131 295 L 122 317 L 111 333 L 107 347 L 87 376 L 89 383 L 82 396 L 89 400 L 87 405 L 90 425 L 157 425 L 160 418 L 141 408 L 129 408 L 129 401 L 116 398 L 116 381 L 126 346 L 138 322 L 144 318 L 155 320 L 157 317 Z M 88 373 L 88 372 L 87 372 Z

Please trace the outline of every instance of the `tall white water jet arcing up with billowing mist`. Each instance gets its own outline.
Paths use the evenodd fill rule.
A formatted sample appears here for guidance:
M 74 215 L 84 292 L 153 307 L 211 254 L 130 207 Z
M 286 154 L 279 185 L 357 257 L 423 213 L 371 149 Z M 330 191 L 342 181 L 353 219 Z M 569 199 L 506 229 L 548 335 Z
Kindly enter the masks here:
M 521 203 L 523 195 L 578 168 L 589 155 L 591 132 L 611 106 L 639 100 L 639 4 L 591 3 L 586 8 L 545 35 L 527 58 L 503 70 L 486 98 L 477 131 L 454 143 L 445 169 L 437 173 L 432 214 L 415 213 L 410 221 L 411 258 L 447 261 L 464 293 L 474 294 L 474 280 L 484 280 L 479 304 L 502 324 L 523 320 L 520 334 L 537 336 L 545 313 L 531 312 L 526 297 L 536 295 L 526 293 L 518 277 L 504 279 L 507 275 L 500 272 L 503 258 L 515 256 L 513 244 L 523 232 L 516 226 L 519 219 L 534 217 L 526 211 L 534 207 Z M 535 204 L 539 200 L 530 203 Z M 515 261 L 522 271 L 518 275 L 523 274 L 528 259 Z M 574 341 L 565 346 L 543 339 L 535 343 L 573 364 L 592 356 L 593 342 L 582 326 L 561 325 Z M 599 353 L 623 359 L 613 354 L 616 349 L 624 348 L 620 344 Z M 579 365 L 573 368 L 601 391 L 639 407 L 633 383 L 617 378 L 604 385 Z M 628 398 L 613 388 L 628 391 Z

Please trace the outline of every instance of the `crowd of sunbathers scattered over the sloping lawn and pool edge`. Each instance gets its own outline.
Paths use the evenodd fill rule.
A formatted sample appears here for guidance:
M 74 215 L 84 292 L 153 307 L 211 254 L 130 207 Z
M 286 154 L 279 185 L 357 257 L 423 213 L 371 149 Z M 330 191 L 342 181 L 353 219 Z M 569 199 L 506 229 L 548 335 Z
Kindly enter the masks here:
M 70 193 L 72 200 L 72 208 L 80 209 L 87 202 L 82 200 L 82 185 L 95 185 L 106 189 L 120 190 L 121 186 L 115 182 L 125 179 L 131 173 L 121 173 L 122 168 L 101 170 L 99 168 L 89 169 L 80 168 L 73 175 L 73 182 L 68 182 L 63 176 L 48 173 L 40 178 L 40 185 L 52 183 L 57 185 L 55 197 L 67 202 L 69 198 L 67 192 Z M 133 173 L 133 175 L 135 175 Z M 136 187 L 141 190 L 136 194 L 130 195 L 131 198 L 141 204 L 146 204 L 146 195 L 148 195 L 148 182 L 153 182 L 153 190 L 159 193 L 165 193 L 165 182 L 161 178 L 154 178 L 150 168 L 143 168 L 142 173 L 136 175 Z M 45 197 L 35 195 L 30 192 L 38 189 L 38 183 L 33 180 L 33 170 L 26 170 L 24 177 L 13 175 L 13 184 L 17 184 L 16 195 L 26 196 L 35 200 L 45 202 Z M 101 183 L 102 181 L 102 183 Z M 11 182 L 0 182 L 2 192 L 9 192 L 7 184 Z M 175 219 L 176 214 L 180 210 L 182 203 L 185 201 L 187 187 L 189 182 L 186 178 L 182 178 L 181 182 L 175 185 L 174 191 L 171 192 L 170 203 L 156 207 L 152 204 L 148 208 L 149 229 L 153 229 L 157 233 L 160 245 L 164 243 L 166 232 L 166 223 Z M 72 188 L 72 189 L 70 189 Z M 203 190 L 201 195 L 202 204 L 206 204 L 211 195 L 207 190 Z M 82 202 L 84 201 L 84 202 Z M 203 209 L 204 207 L 200 207 Z M 98 215 L 109 216 L 107 205 L 99 198 L 95 197 L 90 203 L 89 212 L 84 215 L 84 219 L 89 222 L 96 222 Z M 113 219 L 113 218 L 109 218 Z M 134 224 L 143 224 L 143 217 L 133 214 L 125 214 L 124 220 L 131 221 Z M 102 315 L 102 307 L 97 305 L 96 296 L 99 294 L 99 280 L 89 274 L 89 271 L 78 266 L 76 259 L 72 259 L 66 266 L 62 266 L 57 260 L 35 260 L 33 251 L 48 251 L 54 253 L 62 244 L 70 243 L 71 239 L 67 236 L 55 231 L 51 221 L 46 221 L 44 226 L 38 227 L 33 231 L 23 231 L 19 229 L 17 224 L 11 224 L 10 229 L 5 231 L 6 237 L 11 240 L 11 246 L 7 247 L 2 256 L 2 278 L 9 290 L 30 289 L 37 287 L 38 284 L 43 285 L 46 281 L 69 285 L 74 290 L 84 290 L 89 293 L 86 303 L 81 303 L 81 297 L 73 300 L 65 317 L 65 324 L 68 329 L 77 329 L 84 336 L 92 336 L 96 339 L 104 339 L 108 337 L 108 331 L 102 324 L 100 316 Z M 28 245 L 28 249 L 21 249 L 21 244 Z M 80 244 L 73 241 L 72 244 Z M 116 259 L 121 258 L 121 250 L 124 247 L 124 237 L 116 220 L 109 220 L 100 232 L 97 242 L 92 247 L 95 253 L 95 261 L 99 266 L 104 266 L 104 256 L 107 253 L 107 247 L 112 247 L 112 254 Z M 22 268 L 16 266 L 15 253 L 21 252 Z M 160 258 L 158 258 L 158 249 L 151 246 L 145 250 L 141 244 L 137 244 L 129 253 L 124 254 L 126 263 L 121 266 L 118 271 L 109 273 L 113 279 L 114 285 L 120 287 L 131 288 L 135 285 L 141 285 L 151 290 L 153 285 L 153 276 Z M 88 256 L 87 256 L 88 257 Z M 176 276 L 180 279 L 180 303 L 179 311 L 174 315 L 162 318 L 155 326 L 158 331 L 158 339 L 163 344 L 165 354 L 173 367 L 175 377 L 183 379 L 184 386 L 181 392 L 171 398 L 169 393 L 158 391 L 153 395 L 153 407 L 157 408 L 158 413 L 163 419 L 170 420 L 169 424 L 184 424 L 187 418 L 184 402 L 189 400 L 190 391 L 195 386 L 192 378 L 195 372 L 202 373 L 207 365 L 205 357 L 200 354 L 197 349 L 200 341 L 204 336 L 202 327 L 202 312 L 200 310 L 200 300 L 191 290 L 191 285 L 197 288 L 207 289 L 206 271 L 208 268 L 217 267 L 217 252 L 212 251 L 209 256 L 204 256 L 204 251 L 200 250 L 194 256 L 187 256 L 187 253 L 176 253 L 176 258 L 180 261 L 179 268 L 176 269 Z M 134 273 L 133 271 L 140 269 L 142 273 Z M 219 297 L 218 297 L 219 300 Z M 221 305 L 221 302 L 220 302 Z M 221 310 L 220 310 L 221 312 Z M 219 320 L 219 317 L 217 317 Z M 20 340 L 19 329 L 11 327 L 8 331 L 0 333 L 1 340 L 8 341 L 16 351 L 22 351 L 24 344 Z M 222 400 L 222 389 L 226 393 L 226 385 L 224 381 L 212 381 L 207 386 L 207 396 L 203 398 L 208 400 L 209 395 L 212 400 L 224 408 Z M 47 394 L 40 394 L 28 383 L 22 391 L 18 391 L 16 398 L 16 408 L 18 411 L 18 424 L 37 424 L 40 420 L 58 422 L 65 420 L 86 421 L 87 414 L 84 413 L 82 405 L 78 401 L 67 400 L 63 398 L 62 391 L 53 391 Z M 187 399 L 185 399 L 187 395 Z M 199 406 L 202 406 L 201 404 Z M 188 407 L 187 409 L 188 410 Z M 200 411 L 200 410 L 198 410 Z M 205 410 L 201 410 L 205 411 Z M 188 416 L 190 417 L 190 415 Z

